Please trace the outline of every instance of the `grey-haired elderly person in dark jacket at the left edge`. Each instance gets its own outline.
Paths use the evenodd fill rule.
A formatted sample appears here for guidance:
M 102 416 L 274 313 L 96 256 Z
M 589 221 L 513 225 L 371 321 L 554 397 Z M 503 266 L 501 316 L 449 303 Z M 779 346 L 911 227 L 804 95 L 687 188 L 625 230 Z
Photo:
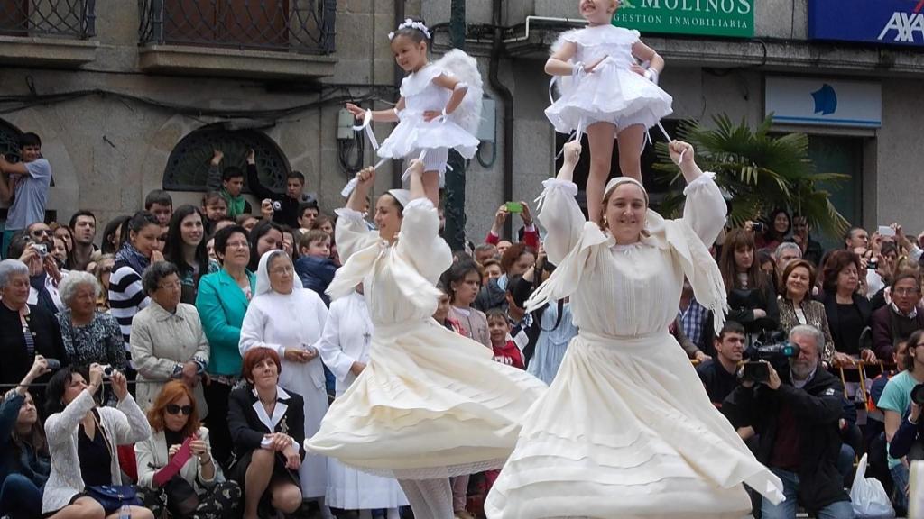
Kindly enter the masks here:
M 29 299 L 29 267 L 18 259 L 0 261 L 0 383 L 16 384 L 29 373 L 36 355 L 67 365 L 61 329 L 55 316 Z M 47 381 L 43 377 L 38 382 Z M 41 401 L 43 390 L 32 395 Z

